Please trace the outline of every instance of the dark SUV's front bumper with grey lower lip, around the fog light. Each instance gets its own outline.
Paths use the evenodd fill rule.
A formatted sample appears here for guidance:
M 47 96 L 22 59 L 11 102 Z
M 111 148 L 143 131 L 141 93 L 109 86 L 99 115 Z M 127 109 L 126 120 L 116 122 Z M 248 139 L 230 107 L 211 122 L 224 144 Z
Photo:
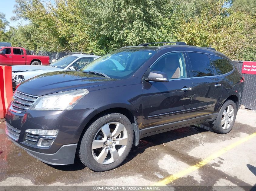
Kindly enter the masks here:
M 73 164 L 76 147 L 88 120 L 95 115 L 95 109 L 65 110 L 65 111 L 34 111 L 15 113 L 8 109 L 5 115 L 6 134 L 28 154 L 48 164 Z M 58 129 L 58 135 L 48 148 L 29 145 L 26 129 Z M 8 133 L 11 132 L 11 133 Z M 32 134 L 33 135 L 33 134 Z M 35 137 L 36 138 L 36 137 Z M 38 142 L 37 139 L 36 143 Z

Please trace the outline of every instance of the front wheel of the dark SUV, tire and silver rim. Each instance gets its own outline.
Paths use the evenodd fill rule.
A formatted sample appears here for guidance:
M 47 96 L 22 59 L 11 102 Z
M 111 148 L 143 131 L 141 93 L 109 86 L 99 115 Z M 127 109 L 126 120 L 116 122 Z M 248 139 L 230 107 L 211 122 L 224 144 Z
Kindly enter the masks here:
M 125 160 L 132 143 L 133 129 L 129 119 L 120 113 L 104 113 L 85 131 L 79 145 L 79 158 L 93 171 L 111 170 Z

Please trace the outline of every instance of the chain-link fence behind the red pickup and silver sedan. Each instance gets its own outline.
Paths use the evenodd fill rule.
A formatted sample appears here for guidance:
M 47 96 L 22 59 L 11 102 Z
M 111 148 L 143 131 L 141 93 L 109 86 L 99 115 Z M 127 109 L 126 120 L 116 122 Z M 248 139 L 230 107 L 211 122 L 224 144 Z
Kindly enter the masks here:
M 75 53 L 75 52 L 44 52 L 39 51 L 36 53 L 33 50 L 27 50 L 27 53 L 31 55 L 38 55 L 38 56 L 49 56 L 50 57 L 50 63 L 52 63 L 52 60 L 58 60 L 64 56 L 71 55 L 71 54 L 85 54 L 85 53 Z

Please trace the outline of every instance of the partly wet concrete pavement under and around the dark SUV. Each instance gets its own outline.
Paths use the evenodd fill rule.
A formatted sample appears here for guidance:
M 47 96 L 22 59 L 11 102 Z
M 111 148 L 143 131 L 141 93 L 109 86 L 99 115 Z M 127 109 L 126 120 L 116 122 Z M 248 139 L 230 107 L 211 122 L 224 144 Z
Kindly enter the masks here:
M 140 140 L 120 167 L 97 173 L 78 161 L 52 166 L 33 158 L 7 138 L 4 119 L 0 119 L 0 185 L 154 185 L 254 132 L 256 113 L 239 110 L 232 131 L 226 135 L 196 126 L 153 135 Z M 255 146 L 256 136 L 168 185 L 253 186 Z

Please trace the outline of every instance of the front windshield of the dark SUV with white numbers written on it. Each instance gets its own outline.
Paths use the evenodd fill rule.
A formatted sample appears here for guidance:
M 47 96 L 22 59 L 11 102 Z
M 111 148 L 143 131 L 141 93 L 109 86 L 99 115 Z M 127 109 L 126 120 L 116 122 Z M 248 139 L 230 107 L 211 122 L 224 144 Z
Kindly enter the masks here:
M 125 79 L 131 77 L 155 53 L 156 51 L 145 50 L 145 48 L 122 48 L 98 58 L 80 71 L 101 72 L 110 78 Z

